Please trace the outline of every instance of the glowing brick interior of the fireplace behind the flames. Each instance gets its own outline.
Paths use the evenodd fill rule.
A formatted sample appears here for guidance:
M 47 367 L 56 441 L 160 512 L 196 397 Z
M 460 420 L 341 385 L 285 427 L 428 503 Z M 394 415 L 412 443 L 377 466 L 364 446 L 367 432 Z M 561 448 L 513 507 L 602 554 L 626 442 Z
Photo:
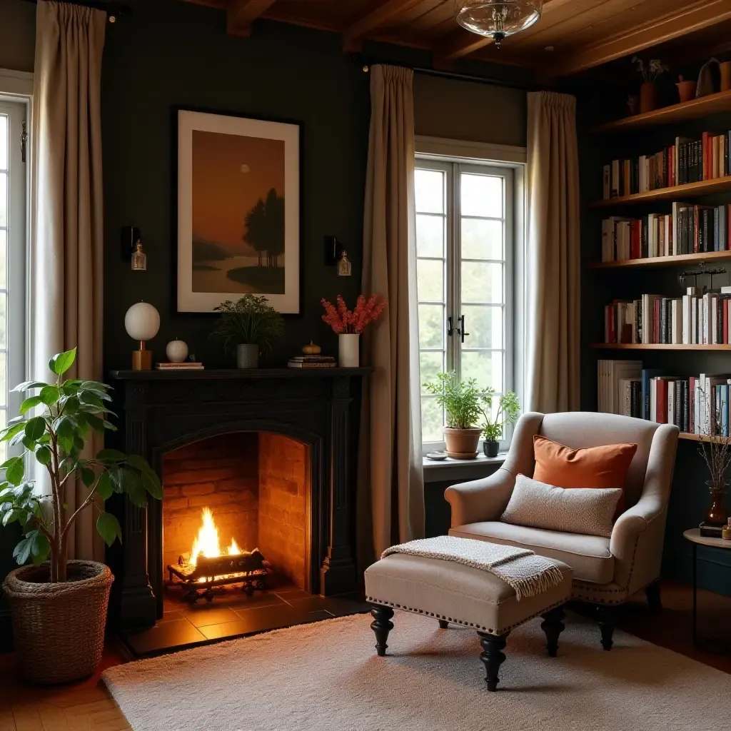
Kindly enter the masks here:
M 259 548 L 278 575 L 303 588 L 307 460 L 305 444 L 266 432 L 208 437 L 164 455 L 163 571 L 190 552 L 208 507 L 221 548 L 232 538 Z

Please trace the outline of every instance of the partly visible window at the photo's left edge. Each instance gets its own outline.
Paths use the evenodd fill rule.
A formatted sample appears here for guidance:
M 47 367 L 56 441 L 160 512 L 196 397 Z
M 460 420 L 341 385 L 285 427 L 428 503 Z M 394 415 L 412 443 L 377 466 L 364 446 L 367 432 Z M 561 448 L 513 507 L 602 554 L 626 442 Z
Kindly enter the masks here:
M 26 165 L 20 150 L 26 105 L 0 99 L 0 426 L 22 395 L 8 393 L 25 372 Z M 12 398 L 11 398 L 12 397 Z M 0 462 L 7 442 L 0 443 Z

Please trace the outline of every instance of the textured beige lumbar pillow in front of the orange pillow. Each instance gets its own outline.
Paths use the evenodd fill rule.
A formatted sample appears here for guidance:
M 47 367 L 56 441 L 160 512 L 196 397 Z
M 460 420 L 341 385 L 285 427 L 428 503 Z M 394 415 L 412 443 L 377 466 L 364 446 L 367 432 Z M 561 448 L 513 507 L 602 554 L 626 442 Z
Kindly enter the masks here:
M 609 538 L 621 496 L 619 488 L 565 490 L 519 474 L 500 520 L 514 526 Z

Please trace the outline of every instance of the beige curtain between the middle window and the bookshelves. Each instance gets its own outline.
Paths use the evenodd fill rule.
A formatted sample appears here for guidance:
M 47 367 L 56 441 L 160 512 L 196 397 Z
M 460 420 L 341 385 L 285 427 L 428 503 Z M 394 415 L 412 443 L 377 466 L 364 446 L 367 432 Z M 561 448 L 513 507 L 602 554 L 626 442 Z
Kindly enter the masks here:
M 580 224 L 576 99 L 528 95 L 527 409 L 579 408 Z

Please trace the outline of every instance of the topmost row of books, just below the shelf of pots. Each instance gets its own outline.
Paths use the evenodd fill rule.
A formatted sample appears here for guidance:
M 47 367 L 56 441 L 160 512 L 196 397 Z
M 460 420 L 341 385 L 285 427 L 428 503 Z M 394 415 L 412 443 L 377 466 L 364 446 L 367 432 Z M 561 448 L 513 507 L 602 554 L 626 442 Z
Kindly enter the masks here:
M 700 140 L 675 137 L 675 144 L 651 155 L 613 160 L 604 166 L 605 200 L 731 175 L 731 131 L 703 132 Z

